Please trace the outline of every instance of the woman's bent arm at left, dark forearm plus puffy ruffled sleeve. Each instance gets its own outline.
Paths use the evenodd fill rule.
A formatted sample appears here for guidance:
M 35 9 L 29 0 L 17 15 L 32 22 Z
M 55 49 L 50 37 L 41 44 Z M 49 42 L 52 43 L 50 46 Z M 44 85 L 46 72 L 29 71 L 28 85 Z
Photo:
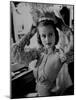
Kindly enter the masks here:
M 28 45 L 32 36 L 36 33 L 36 28 L 32 26 L 31 31 L 26 34 L 19 42 L 15 43 L 11 48 L 11 57 L 13 62 L 25 64 L 39 57 L 39 51 L 37 49 L 25 49 L 25 45 Z

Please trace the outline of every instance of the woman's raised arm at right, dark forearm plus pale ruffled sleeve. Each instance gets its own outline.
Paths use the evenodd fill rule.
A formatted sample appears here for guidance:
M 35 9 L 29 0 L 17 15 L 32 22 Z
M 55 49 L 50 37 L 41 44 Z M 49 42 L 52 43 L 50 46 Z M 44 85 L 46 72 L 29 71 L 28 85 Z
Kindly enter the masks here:
M 61 43 L 59 48 L 59 56 L 62 62 L 70 63 L 73 61 L 74 56 L 74 34 L 72 29 L 65 24 L 63 19 L 56 16 L 57 20 L 57 27 L 63 32 L 64 34 L 64 43 Z

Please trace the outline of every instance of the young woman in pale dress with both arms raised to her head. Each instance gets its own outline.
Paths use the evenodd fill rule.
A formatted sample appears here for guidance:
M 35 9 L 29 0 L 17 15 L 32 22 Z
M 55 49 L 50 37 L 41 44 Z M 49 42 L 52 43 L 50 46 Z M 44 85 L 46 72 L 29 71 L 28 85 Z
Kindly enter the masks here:
M 57 28 L 63 31 L 67 39 L 64 48 L 62 46 L 56 48 L 59 41 Z M 35 33 L 37 33 L 40 48 L 24 49 Z M 13 53 L 15 62 L 28 66 L 31 61 L 37 60 L 33 71 L 37 91 L 34 96 L 61 95 L 66 88 L 72 85 L 68 73 L 68 55 L 72 47 L 71 29 L 56 16 L 41 18 L 36 27 L 32 27 L 27 35 L 13 45 L 11 53 Z

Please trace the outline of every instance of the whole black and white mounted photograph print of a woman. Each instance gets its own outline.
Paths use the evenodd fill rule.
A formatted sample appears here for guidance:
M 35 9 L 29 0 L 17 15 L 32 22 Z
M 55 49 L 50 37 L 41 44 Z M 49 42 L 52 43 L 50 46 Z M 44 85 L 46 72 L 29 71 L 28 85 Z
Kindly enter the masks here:
M 74 5 L 10 1 L 11 99 L 74 95 Z

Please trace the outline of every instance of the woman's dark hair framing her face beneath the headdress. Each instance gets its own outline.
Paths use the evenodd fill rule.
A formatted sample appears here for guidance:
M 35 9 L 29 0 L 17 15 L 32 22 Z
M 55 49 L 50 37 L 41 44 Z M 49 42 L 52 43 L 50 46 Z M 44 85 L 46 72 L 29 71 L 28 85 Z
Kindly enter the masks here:
M 37 23 L 37 27 L 48 26 L 48 25 L 52 25 L 52 27 L 55 30 L 55 45 L 56 45 L 58 43 L 58 41 L 59 41 L 59 34 L 58 34 L 58 31 L 56 29 L 56 25 L 54 24 L 54 22 L 51 21 L 51 20 L 42 20 L 42 21 L 40 21 L 40 22 Z M 38 44 L 40 46 L 43 46 L 41 38 L 40 38 L 40 34 L 39 34 L 38 28 L 37 28 L 37 40 L 38 40 Z

